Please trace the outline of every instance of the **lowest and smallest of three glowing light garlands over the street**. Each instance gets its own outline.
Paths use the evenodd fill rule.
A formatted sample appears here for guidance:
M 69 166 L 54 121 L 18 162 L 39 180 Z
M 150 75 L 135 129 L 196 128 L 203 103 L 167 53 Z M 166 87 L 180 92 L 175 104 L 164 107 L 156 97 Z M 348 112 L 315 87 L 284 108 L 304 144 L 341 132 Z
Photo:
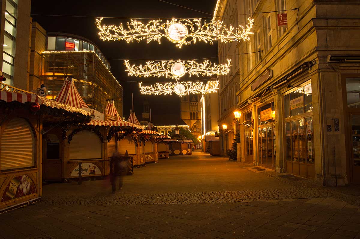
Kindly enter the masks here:
M 184 96 L 188 94 L 208 94 L 215 93 L 219 89 L 219 80 L 208 81 L 206 85 L 202 82 L 168 82 L 165 84 L 156 83 L 155 85 L 143 86 L 143 83 L 139 83 L 140 93 L 146 95 L 167 95 L 175 93 L 177 95 Z

